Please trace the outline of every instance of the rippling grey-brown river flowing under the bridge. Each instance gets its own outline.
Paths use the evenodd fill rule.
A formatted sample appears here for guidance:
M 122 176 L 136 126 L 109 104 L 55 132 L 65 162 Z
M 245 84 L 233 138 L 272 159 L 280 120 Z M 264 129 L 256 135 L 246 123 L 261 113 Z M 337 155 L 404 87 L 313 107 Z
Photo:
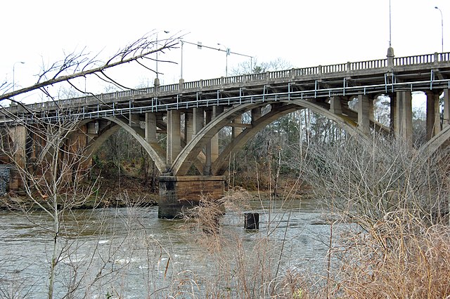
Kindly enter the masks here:
M 316 201 L 252 200 L 245 211 L 259 213 L 259 230 L 244 230 L 243 211 L 228 208 L 219 237 L 195 221 L 158 219 L 158 206 L 72 211 L 62 225 L 68 237 L 59 238 L 55 298 L 233 298 L 249 281 L 264 296 L 274 272 L 323 273 L 330 225 Z M 0 218 L 0 297 L 46 298 L 51 218 Z

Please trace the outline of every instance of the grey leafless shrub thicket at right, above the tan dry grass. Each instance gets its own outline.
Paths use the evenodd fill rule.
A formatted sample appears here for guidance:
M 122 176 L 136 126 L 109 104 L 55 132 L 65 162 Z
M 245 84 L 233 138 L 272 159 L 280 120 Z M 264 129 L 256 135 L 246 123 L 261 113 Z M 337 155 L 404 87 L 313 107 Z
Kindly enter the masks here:
M 403 142 L 375 136 L 361 143 L 352 138 L 332 145 L 311 145 L 288 164 L 300 170 L 316 197 L 365 228 L 407 209 L 430 223 L 448 213 L 448 182 L 439 157 Z

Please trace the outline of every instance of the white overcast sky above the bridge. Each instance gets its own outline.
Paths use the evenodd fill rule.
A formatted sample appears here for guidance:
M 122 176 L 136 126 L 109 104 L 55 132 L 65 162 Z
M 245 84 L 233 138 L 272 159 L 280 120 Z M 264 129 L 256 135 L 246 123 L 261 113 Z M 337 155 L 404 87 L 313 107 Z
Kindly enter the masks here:
M 435 6 L 444 16 L 444 51 L 450 51 L 449 0 L 391 4 L 397 57 L 441 51 L 441 14 Z M 205 46 L 221 43 L 259 62 L 281 58 L 293 67 L 385 58 L 390 32 L 389 0 L 11 0 L 1 4 L 1 11 L 0 79 L 12 82 L 14 63 L 25 62 L 15 63 L 16 89 L 33 84 L 42 63 L 60 60 L 64 53 L 86 48 L 105 57 L 152 30 L 186 34 L 186 41 Z M 178 63 L 180 57 L 179 49 L 160 55 Z M 185 81 L 224 76 L 225 58 L 224 52 L 185 44 Z M 229 56 L 229 71 L 244 59 Z M 179 80 L 180 65 L 160 64 L 159 70 L 162 84 Z M 122 74 L 130 87 L 152 85 L 155 78 L 143 69 Z M 39 100 L 35 97 L 27 95 L 25 101 Z

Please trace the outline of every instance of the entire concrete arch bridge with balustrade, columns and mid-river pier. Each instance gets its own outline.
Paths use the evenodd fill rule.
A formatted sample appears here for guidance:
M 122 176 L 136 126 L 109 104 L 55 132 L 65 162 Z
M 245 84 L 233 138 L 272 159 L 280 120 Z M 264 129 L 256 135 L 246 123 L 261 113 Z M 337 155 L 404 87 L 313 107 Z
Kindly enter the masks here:
M 110 135 L 124 128 L 162 173 L 159 216 L 173 218 L 198 202 L 201 194 L 220 197 L 229 154 L 267 124 L 298 109 L 321 114 L 361 138 L 377 128 L 412 146 L 411 93 L 422 91 L 429 140 L 424 149 L 435 152 L 450 138 L 449 88 L 450 53 L 395 58 L 390 48 L 383 59 L 193 82 L 181 79 L 167 86 L 12 105 L 0 110 L 0 124 L 8 127 L 15 160 L 24 166 L 47 154 L 45 146 L 37 151 L 30 143 L 28 127 L 38 121 L 76 124 L 68 142 L 85 148 L 88 161 Z M 379 95 L 390 98 L 390 126 L 373 119 L 373 100 Z M 355 98 L 357 108 L 350 109 L 349 101 Z M 250 119 L 243 122 L 243 114 Z M 219 152 L 218 133 L 226 126 L 231 127 L 231 142 Z M 167 135 L 165 148 L 157 134 Z M 187 175 L 191 167 L 200 175 Z

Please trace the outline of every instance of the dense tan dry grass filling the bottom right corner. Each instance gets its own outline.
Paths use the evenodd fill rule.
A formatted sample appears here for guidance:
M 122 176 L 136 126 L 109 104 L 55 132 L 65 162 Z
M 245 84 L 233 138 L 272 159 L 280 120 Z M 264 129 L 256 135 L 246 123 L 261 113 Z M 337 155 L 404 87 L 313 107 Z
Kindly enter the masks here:
M 345 238 L 331 297 L 449 298 L 449 227 L 407 215 Z

